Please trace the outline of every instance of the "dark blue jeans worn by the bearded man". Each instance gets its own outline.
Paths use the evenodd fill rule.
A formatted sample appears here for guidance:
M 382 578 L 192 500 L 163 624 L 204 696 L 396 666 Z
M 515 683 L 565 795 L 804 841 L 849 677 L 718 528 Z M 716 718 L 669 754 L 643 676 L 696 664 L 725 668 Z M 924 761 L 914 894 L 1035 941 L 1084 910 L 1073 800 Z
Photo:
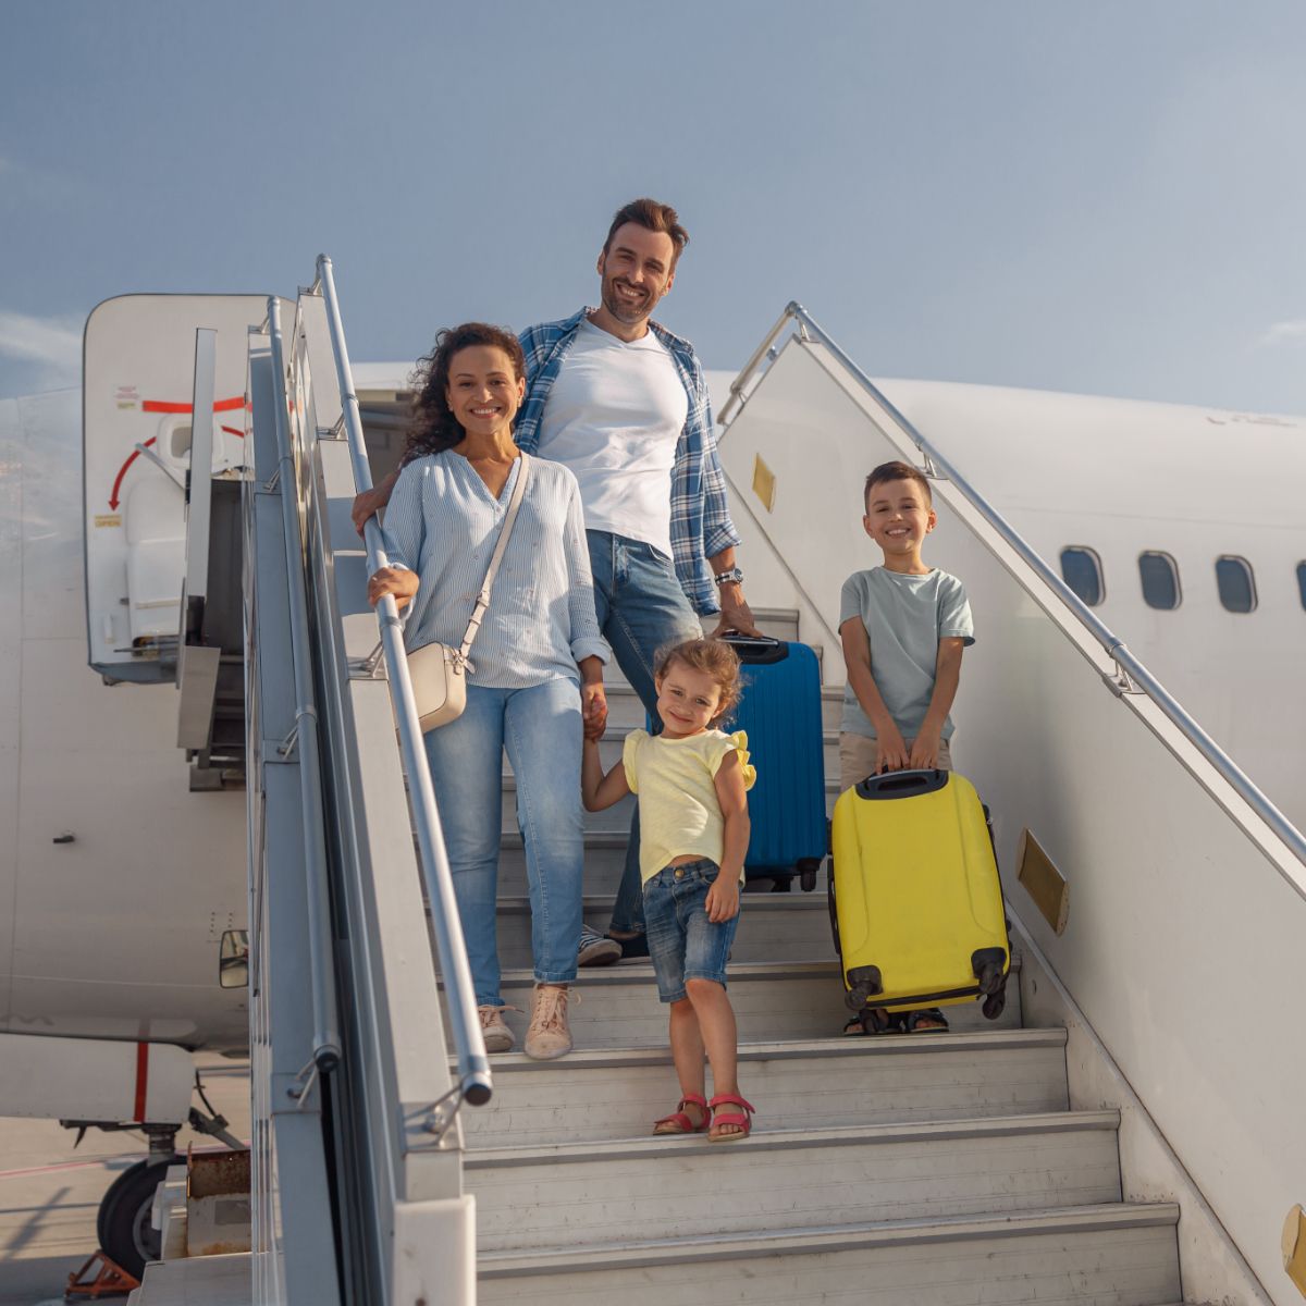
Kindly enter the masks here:
M 667 644 L 703 636 L 675 565 L 652 545 L 586 530 L 589 567 L 594 573 L 594 613 L 598 628 L 613 646 L 616 665 L 631 682 L 644 710 L 657 721 L 653 658 Z M 618 934 L 644 932 L 644 892 L 640 884 L 640 812 L 631 818 L 626 867 L 613 904 L 611 929 Z

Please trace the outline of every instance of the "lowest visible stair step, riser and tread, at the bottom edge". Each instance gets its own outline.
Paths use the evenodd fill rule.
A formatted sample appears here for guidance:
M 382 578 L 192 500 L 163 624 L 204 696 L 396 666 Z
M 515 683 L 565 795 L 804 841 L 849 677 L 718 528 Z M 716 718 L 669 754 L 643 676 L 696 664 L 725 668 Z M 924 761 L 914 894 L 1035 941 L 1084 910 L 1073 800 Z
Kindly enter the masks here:
M 479 1258 L 502 1306 L 1148 1306 L 1178 1301 L 1179 1208 L 1111 1203 Z

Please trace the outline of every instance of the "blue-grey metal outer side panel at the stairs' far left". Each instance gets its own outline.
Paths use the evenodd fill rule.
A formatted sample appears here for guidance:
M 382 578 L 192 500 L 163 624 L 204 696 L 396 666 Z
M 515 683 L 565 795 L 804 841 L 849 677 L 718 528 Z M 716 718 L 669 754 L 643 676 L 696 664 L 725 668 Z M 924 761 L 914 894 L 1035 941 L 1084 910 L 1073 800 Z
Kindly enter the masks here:
M 278 387 L 263 330 L 249 337 L 251 443 L 243 486 L 246 756 L 249 855 L 251 1224 L 256 1306 L 340 1298 L 326 1157 L 325 1079 L 315 1051 L 303 838 L 302 754 L 286 748 L 296 705 L 276 438 Z M 283 398 L 283 392 L 281 394 Z M 283 405 L 281 411 L 285 411 Z M 338 1068 L 337 1068 L 338 1070 Z

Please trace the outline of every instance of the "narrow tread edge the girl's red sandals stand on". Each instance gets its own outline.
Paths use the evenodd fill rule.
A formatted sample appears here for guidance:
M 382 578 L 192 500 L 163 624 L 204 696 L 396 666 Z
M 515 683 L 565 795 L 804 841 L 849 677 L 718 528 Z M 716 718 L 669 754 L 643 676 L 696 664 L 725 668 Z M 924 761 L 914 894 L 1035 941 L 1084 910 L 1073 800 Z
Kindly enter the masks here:
M 952 1121 L 910 1121 L 893 1124 L 835 1124 L 807 1130 L 754 1128 L 748 1152 L 791 1151 L 794 1148 L 848 1147 L 850 1144 L 930 1141 L 966 1138 L 1015 1138 L 1029 1134 L 1070 1134 L 1088 1130 L 1117 1130 L 1121 1113 L 1040 1111 L 1027 1115 L 990 1115 Z M 465 1170 L 502 1169 L 533 1164 L 616 1162 L 632 1158 L 662 1158 L 674 1165 L 687 1156 L 720 1156 L 721 1145 L 704 1134 L 683 1138 L 606 1139 L 601 1143 L 543 1143 L 532 1147 L 481 1148 L 464 1157 Z

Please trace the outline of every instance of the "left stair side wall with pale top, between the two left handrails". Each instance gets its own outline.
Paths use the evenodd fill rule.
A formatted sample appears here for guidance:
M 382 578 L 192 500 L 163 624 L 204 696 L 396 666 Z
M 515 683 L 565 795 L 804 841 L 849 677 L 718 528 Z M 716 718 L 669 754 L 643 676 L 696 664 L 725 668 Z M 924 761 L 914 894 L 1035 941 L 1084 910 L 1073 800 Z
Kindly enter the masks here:
M 388 686 L 362 666 L 375 614 L 349 517 L 354 471 L 321 296 L 300 295 L 296 323 L 291 428 L 343 955 L 345 1057 L 333 1105 L 345 1275 L 354 1299 L 371 1293 L 464 1306 L 475 1266 L 473 1199 L 462 1191 L 461 1085 L 445 1053 Z

